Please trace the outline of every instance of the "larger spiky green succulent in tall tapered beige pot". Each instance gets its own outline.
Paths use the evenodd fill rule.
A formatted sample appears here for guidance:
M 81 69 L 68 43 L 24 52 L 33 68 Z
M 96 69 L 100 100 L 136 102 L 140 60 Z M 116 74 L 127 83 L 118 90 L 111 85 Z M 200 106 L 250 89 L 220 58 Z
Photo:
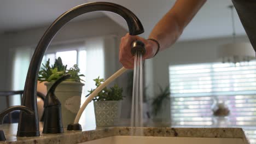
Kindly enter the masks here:
M 50 65 L 50 59 L 43 64 L 39 71 L 38 81 L 45 82 L 47 91 L 53 85 L 54 81 L 59 79 L 62 75 L 71 75 L 70 79 L 63 81 L 55 89 L 55 95 L 61 102 L 62 123 L 63 127 L 73 123 L 77 112 L 80 109 L 81 95 L 84 83 L 79 75 L 80 69 L 78 65 L 73 65 L 72 68 L 67 70 L 67 65 L 63 65 L 61 58 L 55 59 L 54 65 Z

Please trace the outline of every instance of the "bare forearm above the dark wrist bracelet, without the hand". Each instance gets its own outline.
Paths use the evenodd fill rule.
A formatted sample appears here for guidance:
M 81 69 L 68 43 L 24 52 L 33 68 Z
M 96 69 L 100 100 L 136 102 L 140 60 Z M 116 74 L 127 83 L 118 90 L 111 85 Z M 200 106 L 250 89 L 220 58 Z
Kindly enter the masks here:
M 206 0 L 178 0 L 153 28 L 149 38 L 159 41 L 160 50 L 170 47 L 193 19 Z

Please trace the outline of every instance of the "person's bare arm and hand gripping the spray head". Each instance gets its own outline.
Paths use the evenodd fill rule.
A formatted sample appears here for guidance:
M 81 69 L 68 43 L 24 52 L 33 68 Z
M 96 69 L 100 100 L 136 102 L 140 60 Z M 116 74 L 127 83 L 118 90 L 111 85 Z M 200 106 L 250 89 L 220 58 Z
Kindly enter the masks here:
M 160 51 L 170 47 L 179 36 L 183 29 L 193 19 L 197 11 L 202 7 L 206 0 L 177 0 L 167 14 L 156 24 L 149 35 L 150 39 L 155 39 L 160 44 Z M 121 39 L 119 61 L 127 69 L 133 68 L 134 57 L 131 55 L 131 43 L 135 40 L 141 40 L 146 47 L 146 54 L 143 59 L 152 58 L 158 45 L 153 40 L 147 40 L 137 35 L 129 33 Z

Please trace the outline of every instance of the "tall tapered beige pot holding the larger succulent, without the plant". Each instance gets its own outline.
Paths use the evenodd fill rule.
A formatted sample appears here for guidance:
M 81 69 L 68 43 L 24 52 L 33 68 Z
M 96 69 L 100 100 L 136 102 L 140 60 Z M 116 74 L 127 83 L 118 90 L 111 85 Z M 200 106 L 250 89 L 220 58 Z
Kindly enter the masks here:
M 46 82 L 44 85 L 47 91 L 53 82 Z M 63 81 L 55 89 L 55 95 L 61 102 L 62 124 L 67 127 L 73 123 L 77 112 L 80 109 L 81 95 L 84 83 Z

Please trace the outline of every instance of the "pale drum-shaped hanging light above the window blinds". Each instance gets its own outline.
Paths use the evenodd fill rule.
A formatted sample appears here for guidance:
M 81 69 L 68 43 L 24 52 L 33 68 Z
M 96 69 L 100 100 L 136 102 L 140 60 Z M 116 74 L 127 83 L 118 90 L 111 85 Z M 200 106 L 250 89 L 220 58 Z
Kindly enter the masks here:
M 230 5 L 228 8 L 231 10 L 233 43 L 219 46 L 217 55 L 222 58 L 223 63 L 234 63 L 238 66 L 240 62 L 249 62 L 255 59 L 255 51 L 251 43 L 236 43 L 234 6 Z

